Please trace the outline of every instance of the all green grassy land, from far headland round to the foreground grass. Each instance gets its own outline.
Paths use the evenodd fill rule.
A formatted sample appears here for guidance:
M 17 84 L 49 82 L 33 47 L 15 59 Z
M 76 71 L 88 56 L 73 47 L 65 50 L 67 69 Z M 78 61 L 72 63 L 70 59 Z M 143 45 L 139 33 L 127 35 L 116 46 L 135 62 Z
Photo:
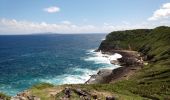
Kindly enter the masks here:
M 87 90 L 103 100 L 108 95 L 114 95 L 119 100 L 170 99 L 170 27 L 112 32 L 101 43 L 99 50 L 128 49 L 129 46 L 147 56 L 149 62 L 129 80 L 93 85 L 40 84 L 33 86 L 30 91 L 42 100 L 58 100 L 65 87 Z M 50 96 L 51 91 L 58 91 L 58 94 Z M 73 95 L 72 99 L 76 100 L 77 96 Z

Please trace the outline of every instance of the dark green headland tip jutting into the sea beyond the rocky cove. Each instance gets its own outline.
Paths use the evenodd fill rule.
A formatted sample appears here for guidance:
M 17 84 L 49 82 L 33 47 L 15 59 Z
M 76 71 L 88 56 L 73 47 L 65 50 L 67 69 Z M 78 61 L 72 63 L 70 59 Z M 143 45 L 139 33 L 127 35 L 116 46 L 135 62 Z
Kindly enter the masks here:
M 106 40 L 102 41 L 98 50 L 128 49 L 131 45 L 136 48 L 134 41 L 139 42 L 151 31 L 150 29 L 137 29 L 112 32 L 106 36 Z

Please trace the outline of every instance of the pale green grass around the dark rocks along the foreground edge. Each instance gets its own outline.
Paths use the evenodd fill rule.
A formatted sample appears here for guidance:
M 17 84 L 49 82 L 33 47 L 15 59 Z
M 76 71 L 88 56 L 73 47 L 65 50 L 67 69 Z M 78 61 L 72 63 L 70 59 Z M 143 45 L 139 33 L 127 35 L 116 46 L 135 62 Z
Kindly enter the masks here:
M 130 87 L 126 89 L 126 87 L 129 84 L 133 84 L 131 82 L 128 82 L 128 84 L 121 81 L 120 83 L 116 84 L 93 84 L 93 85 L 84 85 L 84 84 L 75 84 L 75 85 L 61 85 L 61 86 L 55 86 L 50 88 L 44 88 L 44 89 L 30 89 L 33 95 L 40 97 L 42 100 L 59 100 L 60 98 L 64 97 L 64 88 L 70 87 L 71 89 L 77 89 L 80 88 L 81 90 L 88 91 L 90 94 L 95 93 L 95 91 L 98 91 L 100 93 L 97 94 L 98 98 L 101 98 L 101 100 L 105 100 L 106 96 L 114 96 L 117 99 L 116 100 L 144 100 L 145 97 L 141 97 L 139 95 L 136 95 L 129 91 Z M 60 90 L 62 88 L 62 91 L 57 93 L 55 96 L 49 96 L 48 90 Z M 104 94 L 101 94 L 104 93 Z M 79 100 L 79 96 L 75 93 L 71 93 L 71 100 Z M 91 97 L 92 99 L 92 97 Z

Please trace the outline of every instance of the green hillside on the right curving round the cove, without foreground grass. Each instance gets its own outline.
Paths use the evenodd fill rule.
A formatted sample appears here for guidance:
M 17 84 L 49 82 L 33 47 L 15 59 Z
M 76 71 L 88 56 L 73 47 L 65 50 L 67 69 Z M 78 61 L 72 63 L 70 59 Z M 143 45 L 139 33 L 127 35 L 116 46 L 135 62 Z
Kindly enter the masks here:
M 129 92 L 150 99 L 170 99 L 170 27 L 112 32 L 99 50 L 129 49 L 143 54 L 148 65 L 130 80 L 117 82 Z

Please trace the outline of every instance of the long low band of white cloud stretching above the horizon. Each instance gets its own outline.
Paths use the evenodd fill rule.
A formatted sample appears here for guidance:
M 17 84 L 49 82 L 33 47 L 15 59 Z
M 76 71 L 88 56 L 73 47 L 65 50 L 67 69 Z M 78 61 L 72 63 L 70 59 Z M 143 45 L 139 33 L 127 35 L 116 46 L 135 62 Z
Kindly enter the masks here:
M 123 22 L 122 22 L 123 23 Z M 143 22 L 131 24 L 130 22 L 114 25 L 103 23 L 95 26 L 92 24 L 77 25 L 70 21 L 49 24 L 47 22 L 18 21 L 15 19 L 0 19 L 0 34 L 30 34 L 30 33 L 109 33 L 117 30 L 128 30 L 138 28 L 153 28 L 160 25 L 170 26 L 170 21 L 164 22 Z M 127 24 L 128 23 L 128 24 Z

